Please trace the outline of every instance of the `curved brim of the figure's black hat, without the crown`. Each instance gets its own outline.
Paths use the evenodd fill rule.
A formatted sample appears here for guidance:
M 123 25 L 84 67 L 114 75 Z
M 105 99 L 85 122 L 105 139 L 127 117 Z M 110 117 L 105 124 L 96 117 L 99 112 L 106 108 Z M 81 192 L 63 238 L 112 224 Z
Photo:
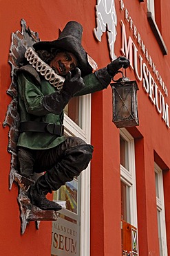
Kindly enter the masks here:
M 76 39 L 76 37 L 72 37 L 72 35 L 63 37 L 61 39 L 59 38 L 52 42 L 38 42 L 34 44 L 33 47 L 35 51 L 57 48 L 73 53 L 78 60 L 78 68 L 81 69 L 81 75 L 85 76 L 92 73 L 92 66 L 89 65 L 87 60 L 87 53 L 85 52 L 81 43 Z

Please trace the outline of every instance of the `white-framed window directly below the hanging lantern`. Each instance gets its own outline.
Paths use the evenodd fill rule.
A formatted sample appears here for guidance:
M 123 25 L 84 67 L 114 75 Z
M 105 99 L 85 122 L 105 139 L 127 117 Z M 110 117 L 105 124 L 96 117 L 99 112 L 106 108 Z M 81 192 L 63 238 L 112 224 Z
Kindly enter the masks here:
M 120 175 L 122 217 L 137 227 L 134 138 L 126 129 L 120 129 Z

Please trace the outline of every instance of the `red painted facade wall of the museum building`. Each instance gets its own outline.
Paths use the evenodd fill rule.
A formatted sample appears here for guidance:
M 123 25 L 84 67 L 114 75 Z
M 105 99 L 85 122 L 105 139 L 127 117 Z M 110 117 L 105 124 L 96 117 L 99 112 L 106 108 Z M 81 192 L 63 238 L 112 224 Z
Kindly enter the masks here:
M 156 1 L 160 6 L 156 21 L 161 32 L 168 53 L 163 55 L 156 35 L 154 35 L 147 19 L 147 1 L 124 0 L 129 16 L 125 19 L 126 9 L 120 8 L 120 1 L 116 2 L 118 18 L 117 38 L 115 43 L 116 55 L 122 55 L 122 31 L 120 21 L 125 24 L 127 39 L 133 40 L 138 54 L 147 64 L 133 30 L 129 27 L 128 17 L 134 21 L 140 37 L 145 42 L 156 68 L 164 84 L 167 86 L 168 95 L 164 94 L 160 84 L 158 89 L 164 101 L 170 106 L 170 17 L 168 0 Z M 133 3 L 132 3 L 133 2 Z M 17 204 L 18 188 L 12 185 L 8 190 L 8 176 L 10 172 L 10 154 L 8 147 L 8 128 L 3 128 L 2 123 L 6 116 L 6 109 L 10 97 L 6 91 L 10 85 L 10 65 L 8 54 L 11 43 L 11 33 L 21 30 L 20 21 L 25 19 L 27 25 L 39 33 L 41 40 L 54 40 L 59 35 L 67 21 L 76 20 L 83 25 L 83 46 L 89 55 L 98 63 L 98 68 L 106 66 L 111 60 L 104 34 L 102 42 L 98 42 L 93 35 L 96 27 L 95 16 L 96 0 L 13 0 L 1 1 L 1 77 L 0 77 L 0 133 L 1 133 L 1 211 L 0 211 L 0 255 L 30 256 L 50 255 L 52 223 L 41 222 L 37 231 L 34 223 L 30 223 L 24 235 L 20 234 L 20 212 Z M 139 62 L 138 62 L 139 63 Z M 147 64 L 149 71 L 151 67 Z M 138 71 L 140 73 L 140 71 Z M 137 80 L 133 68 L 128 68 L 127 76 Z M 153 74 L 156 81 L 156 74 Z M 156 81 L 158 82 L 158 81 Z M 140 256 L 159 256 L 158 225 L 156 212 L 156 185 L 154 162 L 163 173 L 164 181 L 164 207 L 167 228 L 167 248 L 170 251 L 170 158 L 169 142 L 170 129 L 158 113 L 155 104 L 151 102 L 149 93 L 138 81 L 138 114 L 140 125 L 129 128 L 128 131 L 135 140 L 136 161 L 136 197 L 138 213 L 138 246 Z M 170 109 L 169 109 L 170 111 Z M 92 95 L 92 145 L 94 145 L 94 158 L 91 165 L 91 231 L 90 255 L 91 256 L 119 256 L 121 253 L 121 201 L 120 201 L 120 153 L 119 129 L 112 120 L 111 87 L 107 90 Z M 169 119 L 170 122 L 170 119 Z M 49 234 L 49 235 L 47 235 Z M 89 255 L 84 255 L 89 256 Z

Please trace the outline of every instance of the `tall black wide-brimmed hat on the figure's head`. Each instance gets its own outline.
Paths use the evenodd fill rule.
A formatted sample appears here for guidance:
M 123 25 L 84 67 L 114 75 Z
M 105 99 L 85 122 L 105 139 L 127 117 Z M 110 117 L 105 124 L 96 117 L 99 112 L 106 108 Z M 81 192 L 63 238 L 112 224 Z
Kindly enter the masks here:
M 83 27 L 76 21 L 69 21 L 59 38 L 51 42 L 38 42 L 33 45 L 35 51 L 57 48 L 73 53 L 78 60 L 78 68 L 81 69 L 82 76 L 92 73 L 92 66 L 87 60 L 87 53 L 81 45 Z

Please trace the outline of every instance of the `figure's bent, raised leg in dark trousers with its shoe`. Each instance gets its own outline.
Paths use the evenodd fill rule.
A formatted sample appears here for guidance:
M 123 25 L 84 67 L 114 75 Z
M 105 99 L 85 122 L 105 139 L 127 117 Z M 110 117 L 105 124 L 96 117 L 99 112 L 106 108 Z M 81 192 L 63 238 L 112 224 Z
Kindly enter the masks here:
M 38 151 L 34 168 L 36 172 L 46 172 L 31 188 L 30 195 L 34 205 L 42 210 L 61 210 L 61 205 L 46 199 L 46 194 L 59 190 L 65 182 L 80 175 L 92 159 L 92 152 L 92 145 L 87 145 L 76 137 L 67 137 L 52 149 Z

